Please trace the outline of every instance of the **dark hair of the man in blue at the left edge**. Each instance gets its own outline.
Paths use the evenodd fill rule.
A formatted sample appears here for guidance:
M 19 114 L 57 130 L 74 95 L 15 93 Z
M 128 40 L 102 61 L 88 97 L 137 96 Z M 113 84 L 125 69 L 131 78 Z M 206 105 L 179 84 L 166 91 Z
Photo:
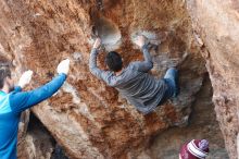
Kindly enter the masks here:
M 3 87 L 7 77 L 11 77 L 10 64 L 0 63 L 0 88 Z

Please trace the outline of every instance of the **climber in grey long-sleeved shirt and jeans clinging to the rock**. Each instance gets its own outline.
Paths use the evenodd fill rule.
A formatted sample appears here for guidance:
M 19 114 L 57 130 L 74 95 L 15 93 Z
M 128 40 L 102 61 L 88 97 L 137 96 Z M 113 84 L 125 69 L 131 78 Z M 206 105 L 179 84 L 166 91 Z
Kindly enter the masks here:
M 109 71 L 100 70 L 97 66 L 98 49 L 101 46 L 100 38 L 95 41 L 89 59 L 90 72 L 109 86 L 115 87 L 143 114 L 150 113 L 178 94 L 176 69 L 168 69 L 161 80 L 156 80 L 148 73 L 153 68 L 153 62 L 146 40 L 144 36 L 138 36 L 136 40 L 143 52 L 144 61 L 131 62 L 124 69 L 122 57 L 115 51 L 106 54 L 105 64 Z

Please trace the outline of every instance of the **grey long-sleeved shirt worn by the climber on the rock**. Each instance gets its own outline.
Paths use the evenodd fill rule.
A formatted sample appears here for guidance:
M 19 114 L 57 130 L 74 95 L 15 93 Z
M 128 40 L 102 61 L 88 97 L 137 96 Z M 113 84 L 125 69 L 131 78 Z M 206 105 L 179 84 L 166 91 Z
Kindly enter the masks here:
M 131 62 L 121 75 L 115 75 L 114 72 L 102 71 L 97 66 L 98 50 L 92 49 L 89 69 L 93 75 L 115 87 L 131 105 L 147 114 L 160 103 L 167 85 L 163 80 L 156 80 L 148 73 L 153 68 L 148 46 L 142 47 L 142 52 L 144 61 Z

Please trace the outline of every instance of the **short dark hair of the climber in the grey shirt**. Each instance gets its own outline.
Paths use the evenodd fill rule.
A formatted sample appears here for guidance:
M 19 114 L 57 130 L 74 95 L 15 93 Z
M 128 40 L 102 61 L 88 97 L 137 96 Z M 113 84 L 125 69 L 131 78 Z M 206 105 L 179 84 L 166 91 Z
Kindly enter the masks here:
M 122 70 L 122 57 L 115 51 L 110 51 L 108 53 L 105 63 L 111 71 L 117 72 Z

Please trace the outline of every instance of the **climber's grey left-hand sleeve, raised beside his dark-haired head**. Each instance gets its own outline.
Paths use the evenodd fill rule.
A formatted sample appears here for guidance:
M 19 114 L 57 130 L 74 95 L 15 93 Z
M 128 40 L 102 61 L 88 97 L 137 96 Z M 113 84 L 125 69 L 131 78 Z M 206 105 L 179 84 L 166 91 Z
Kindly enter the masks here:
M 97 76 L 98 78 L 104 81 L 106 84 L 110 85 L 112 83 L 111 80 L 112 73 L 110 71 L 100 70 L 97 66 L 97 56 L 98 56 L 98 50 L 93 48 L 90 52 L 89 70 L 95 76 Z

